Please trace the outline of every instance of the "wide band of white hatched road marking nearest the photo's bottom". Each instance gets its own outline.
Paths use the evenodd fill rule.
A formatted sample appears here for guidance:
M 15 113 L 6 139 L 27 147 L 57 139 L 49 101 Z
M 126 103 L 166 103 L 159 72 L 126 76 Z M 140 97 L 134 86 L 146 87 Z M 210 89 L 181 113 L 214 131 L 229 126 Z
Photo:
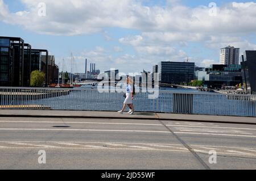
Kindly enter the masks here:
M 151 151 L 173 151 L 173 152 L 189 152 L 187 148 L 182 148 L 180 144 L 152 144 L 152 143 L 118 143 L 118 142 L 61 142 L 61 141 L 0 141 L 5 144 L 20 145 L 20 147 L 13 146 L 0 146 L 0 149 L 105 149 L 105 150 L 151 150 Z M 60 144 L 65 146 L 53 146 L 48 144 Z M 94 145 L 95 144 L 95 145 Z M 99 146 L 100 144 L 102 146 Z M 26 145 L 26 147 L 24 147 Z M 104 147 L 103 145 L 110 145 L 110 147 Z M 79 147 L 80 146 L 80 147 Z M 111 146 L 119 146 L 119 148 L 111 148 Z M 152 146 L 152 147 L 148 147 Z M 123 147 L 123 148 L 122 148 Z M 155 148 L 154 148 L 155 147 Z M 162 147 L 166 149 L 158 149 L 156 147 Z M 208 154 L 208 150 L 218 150 L 217 154 L 220 155 L 245 155 L 253 156 L 256 154 L 250 152 L 256 152 L 255 148 L 238 148 L 229 146 L 208 146 L 208 145 L 191 145 L 194 151 L 197 153 Z M 168 149 L 170 148 L 170 149 Z M 220 148 L 222 148 L 220 150 Z M 205 150 L 202 150 L 205 149 Z M 249 151 L 246 153 L 245 151 Z

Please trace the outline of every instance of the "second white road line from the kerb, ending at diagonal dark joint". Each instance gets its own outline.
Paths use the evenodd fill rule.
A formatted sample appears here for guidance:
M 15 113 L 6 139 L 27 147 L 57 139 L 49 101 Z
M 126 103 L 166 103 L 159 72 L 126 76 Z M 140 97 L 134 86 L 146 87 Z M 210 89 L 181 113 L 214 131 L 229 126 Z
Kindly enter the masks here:
M 168 131 L 146 130 L 119 130 L 119 129 L 32 129 L 32 128 L 0 128 L 2 131 L 98 131 L 98 132 L 144 132 L 144 133 L 169 133 Z

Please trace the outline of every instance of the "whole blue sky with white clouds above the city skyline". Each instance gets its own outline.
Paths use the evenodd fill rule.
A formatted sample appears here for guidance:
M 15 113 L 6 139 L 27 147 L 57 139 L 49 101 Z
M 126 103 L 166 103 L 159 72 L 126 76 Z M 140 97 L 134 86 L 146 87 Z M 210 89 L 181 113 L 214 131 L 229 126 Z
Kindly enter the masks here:
M 46 0 L 45 18 L 35 18 L 38 12 L 35 2 L 0 0 L 0 8 L 7 10 L 5 14 L 0 12 L 0 36 L 22 37 L 33 48 L 48 49 L 55 55 L 57 64 L 62 58 L 65 59 L 67 70 L 72 52 L 76 59 L 76 72 L 84 72 L 85 58 L 89 62 L 96 62 L 96 68 L 101 71 L 117 68 L 128 73 L 143 69 L 152 71 L 152 66 L 159 61 L 185 61 L 187 57 L 198 66 L 207 66 L 217 63 L 219 49 L 228 45 L 240 46 L 238 48 L 241 51 L 256 48 L 256 27 L 248 22 L 248 28 L 243 28 L 247 24 L 246 19 L 241 17 L 255 20 L 254 2 L 249 4 L 247 1 L 236 1 L 237 4 L 234 5 L 233 1 L 214 1 L 220 11 L 217 18 L 209 17 L 209 20 L 205 18 L 203 11 L 209 11 L 207 8 L 212 1 L 203 0 L 172 0 L 171 3 L 165 0 L 126 0 L 123 4 L 117 1 L 118 5 L 109 1 L 108 5 L 102 7 L 99 7 L 100 2 L 99 6 L 94 6 L 93 2 L 97 3 L 96 1 L 85 4 L 75 0 L 73 5 L 76 7 L 78 4 L 77 11 L 68 5 L 68 1 L 63 1 L 63 4 L 67 3 L 70 11 L 57 3 L 51 5 Z M 170 10 L 167 5 L 171 6 Z M 120 12 L 116 12 L 119 10 L 118 6 Z M 180 10 L 180 7 L 183 8 Z M 99 13 L 87 12 L 93 8 Z M 123 14 L 122 8 L 125 11 Z M 237 16 L 237 22 L 241 24 L 238 26 L 241 27 L 236 28 L 233 20 L 229 24 L 230 11 L 226 12 L 225 9 L 230 9 L 234 18 Z M 61 14 L 61 10 L 74 12 L 74 15 Z M 191 12 L 186 14 L 187 11 Z M 17 15 L 16 12 L 22 14 Z M 157 16 L 161 17 L 160 23 L 156 20 Z M 193 24 L 191 22 L 195 17 L 198 21 Z M 67 20 L 69 18 L 71 21 Z M 183 22 L 179 24 L 181 20 Z M 220 25 L 216 25 L 218 20 Z M 30 23 L 35 26 L 30 26 Z M 221 24 L 226 24 L 226 27 Z

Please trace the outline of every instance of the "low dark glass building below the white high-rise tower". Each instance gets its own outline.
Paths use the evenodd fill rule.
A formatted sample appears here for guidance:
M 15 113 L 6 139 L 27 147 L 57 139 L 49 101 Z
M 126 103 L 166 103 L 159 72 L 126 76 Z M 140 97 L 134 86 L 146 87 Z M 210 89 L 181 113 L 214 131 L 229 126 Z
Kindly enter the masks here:
M 236 86 L 242 83 L 241 65 L 210 65 L 205 71 L 199 71 L 198 80 L 209 88 Z

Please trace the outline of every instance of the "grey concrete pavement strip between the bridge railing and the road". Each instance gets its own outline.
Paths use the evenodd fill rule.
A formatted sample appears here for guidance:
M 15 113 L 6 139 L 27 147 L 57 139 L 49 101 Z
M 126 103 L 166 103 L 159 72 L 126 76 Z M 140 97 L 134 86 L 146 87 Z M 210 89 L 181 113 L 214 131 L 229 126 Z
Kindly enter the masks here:
M 176 120 L 210 123 L 255 124 L 256 117 L 184 115 L 174 113 L 143 113 L 135 115 L 106 111 L 49 111 L 49 110 L 0 110 L 0 117 L 76 117 L 95 119 L 139 119 L 139 120 Z

